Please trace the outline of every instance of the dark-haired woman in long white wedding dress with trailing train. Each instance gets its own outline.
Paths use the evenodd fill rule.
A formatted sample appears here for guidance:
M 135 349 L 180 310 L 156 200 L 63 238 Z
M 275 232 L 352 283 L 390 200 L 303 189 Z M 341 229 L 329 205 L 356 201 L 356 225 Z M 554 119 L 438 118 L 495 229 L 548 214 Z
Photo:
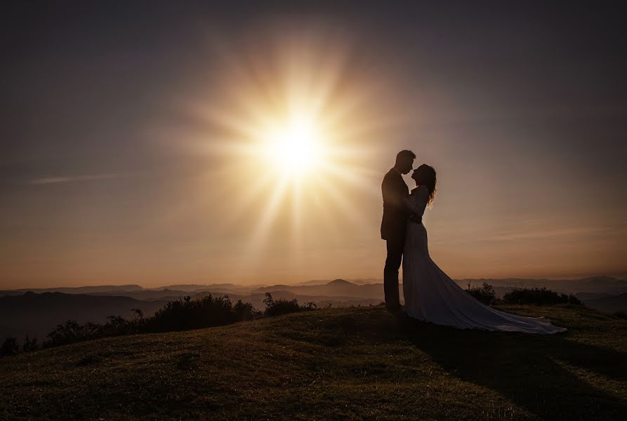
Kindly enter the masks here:
M 411 178 L 416 188 L 405 206 L 411 210 L 403 252 L 404 312 L 414 319 L 456 328 L 477 328 L 524 333 L 558 333 L 543 317 L 524 317 L 483 305 L 457 285 L 429 257 L 427 231 L 422 224 L 425 207 L 435 196 L 435 170 L 423 164 Z

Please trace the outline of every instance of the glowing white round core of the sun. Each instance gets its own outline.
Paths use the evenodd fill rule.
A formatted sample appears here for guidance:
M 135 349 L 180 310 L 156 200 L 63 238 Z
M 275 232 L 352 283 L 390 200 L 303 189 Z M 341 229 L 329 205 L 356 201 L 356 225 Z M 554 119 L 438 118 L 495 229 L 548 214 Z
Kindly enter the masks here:
M 276 171 L 305 175 L 324 158 L 324 136 L 315 119 L 299 112 L 269 128 L 263 136 L 265 156 Z

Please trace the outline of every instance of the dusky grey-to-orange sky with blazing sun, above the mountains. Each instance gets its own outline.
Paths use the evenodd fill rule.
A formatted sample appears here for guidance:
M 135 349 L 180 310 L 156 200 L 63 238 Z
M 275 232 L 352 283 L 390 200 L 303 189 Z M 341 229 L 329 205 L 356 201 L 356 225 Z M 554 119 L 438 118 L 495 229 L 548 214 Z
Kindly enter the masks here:
M 627 274 L 618 2 L 298 3 L 4 5 L 0 288 L 380 279 L 401 149 L 450 276 Z

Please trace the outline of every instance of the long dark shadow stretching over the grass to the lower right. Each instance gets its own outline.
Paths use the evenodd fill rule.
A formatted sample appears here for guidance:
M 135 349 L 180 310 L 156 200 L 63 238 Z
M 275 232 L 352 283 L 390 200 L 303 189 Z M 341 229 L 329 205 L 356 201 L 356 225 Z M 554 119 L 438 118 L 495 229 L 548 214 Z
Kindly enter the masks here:
M 541 418 L 618 420 L 627 413 L 625 401 L 562 365 L 624 381 L 627 354 L 582 345 L 565 335 L 459 330 L 411 319 L 402 319 L 400 330 L 451 375 L 488 387 Z

